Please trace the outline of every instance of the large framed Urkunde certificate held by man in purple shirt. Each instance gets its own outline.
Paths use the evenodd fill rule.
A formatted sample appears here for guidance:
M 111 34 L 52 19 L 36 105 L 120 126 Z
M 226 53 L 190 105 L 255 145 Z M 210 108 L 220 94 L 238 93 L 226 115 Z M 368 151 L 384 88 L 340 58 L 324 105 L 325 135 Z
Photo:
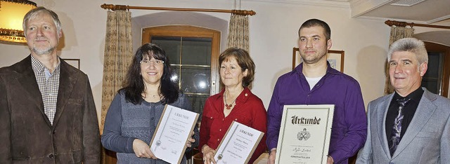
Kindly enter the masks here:
M 324 163 L 328 158 L 333 104 L 285 105 L 275 163 Z

